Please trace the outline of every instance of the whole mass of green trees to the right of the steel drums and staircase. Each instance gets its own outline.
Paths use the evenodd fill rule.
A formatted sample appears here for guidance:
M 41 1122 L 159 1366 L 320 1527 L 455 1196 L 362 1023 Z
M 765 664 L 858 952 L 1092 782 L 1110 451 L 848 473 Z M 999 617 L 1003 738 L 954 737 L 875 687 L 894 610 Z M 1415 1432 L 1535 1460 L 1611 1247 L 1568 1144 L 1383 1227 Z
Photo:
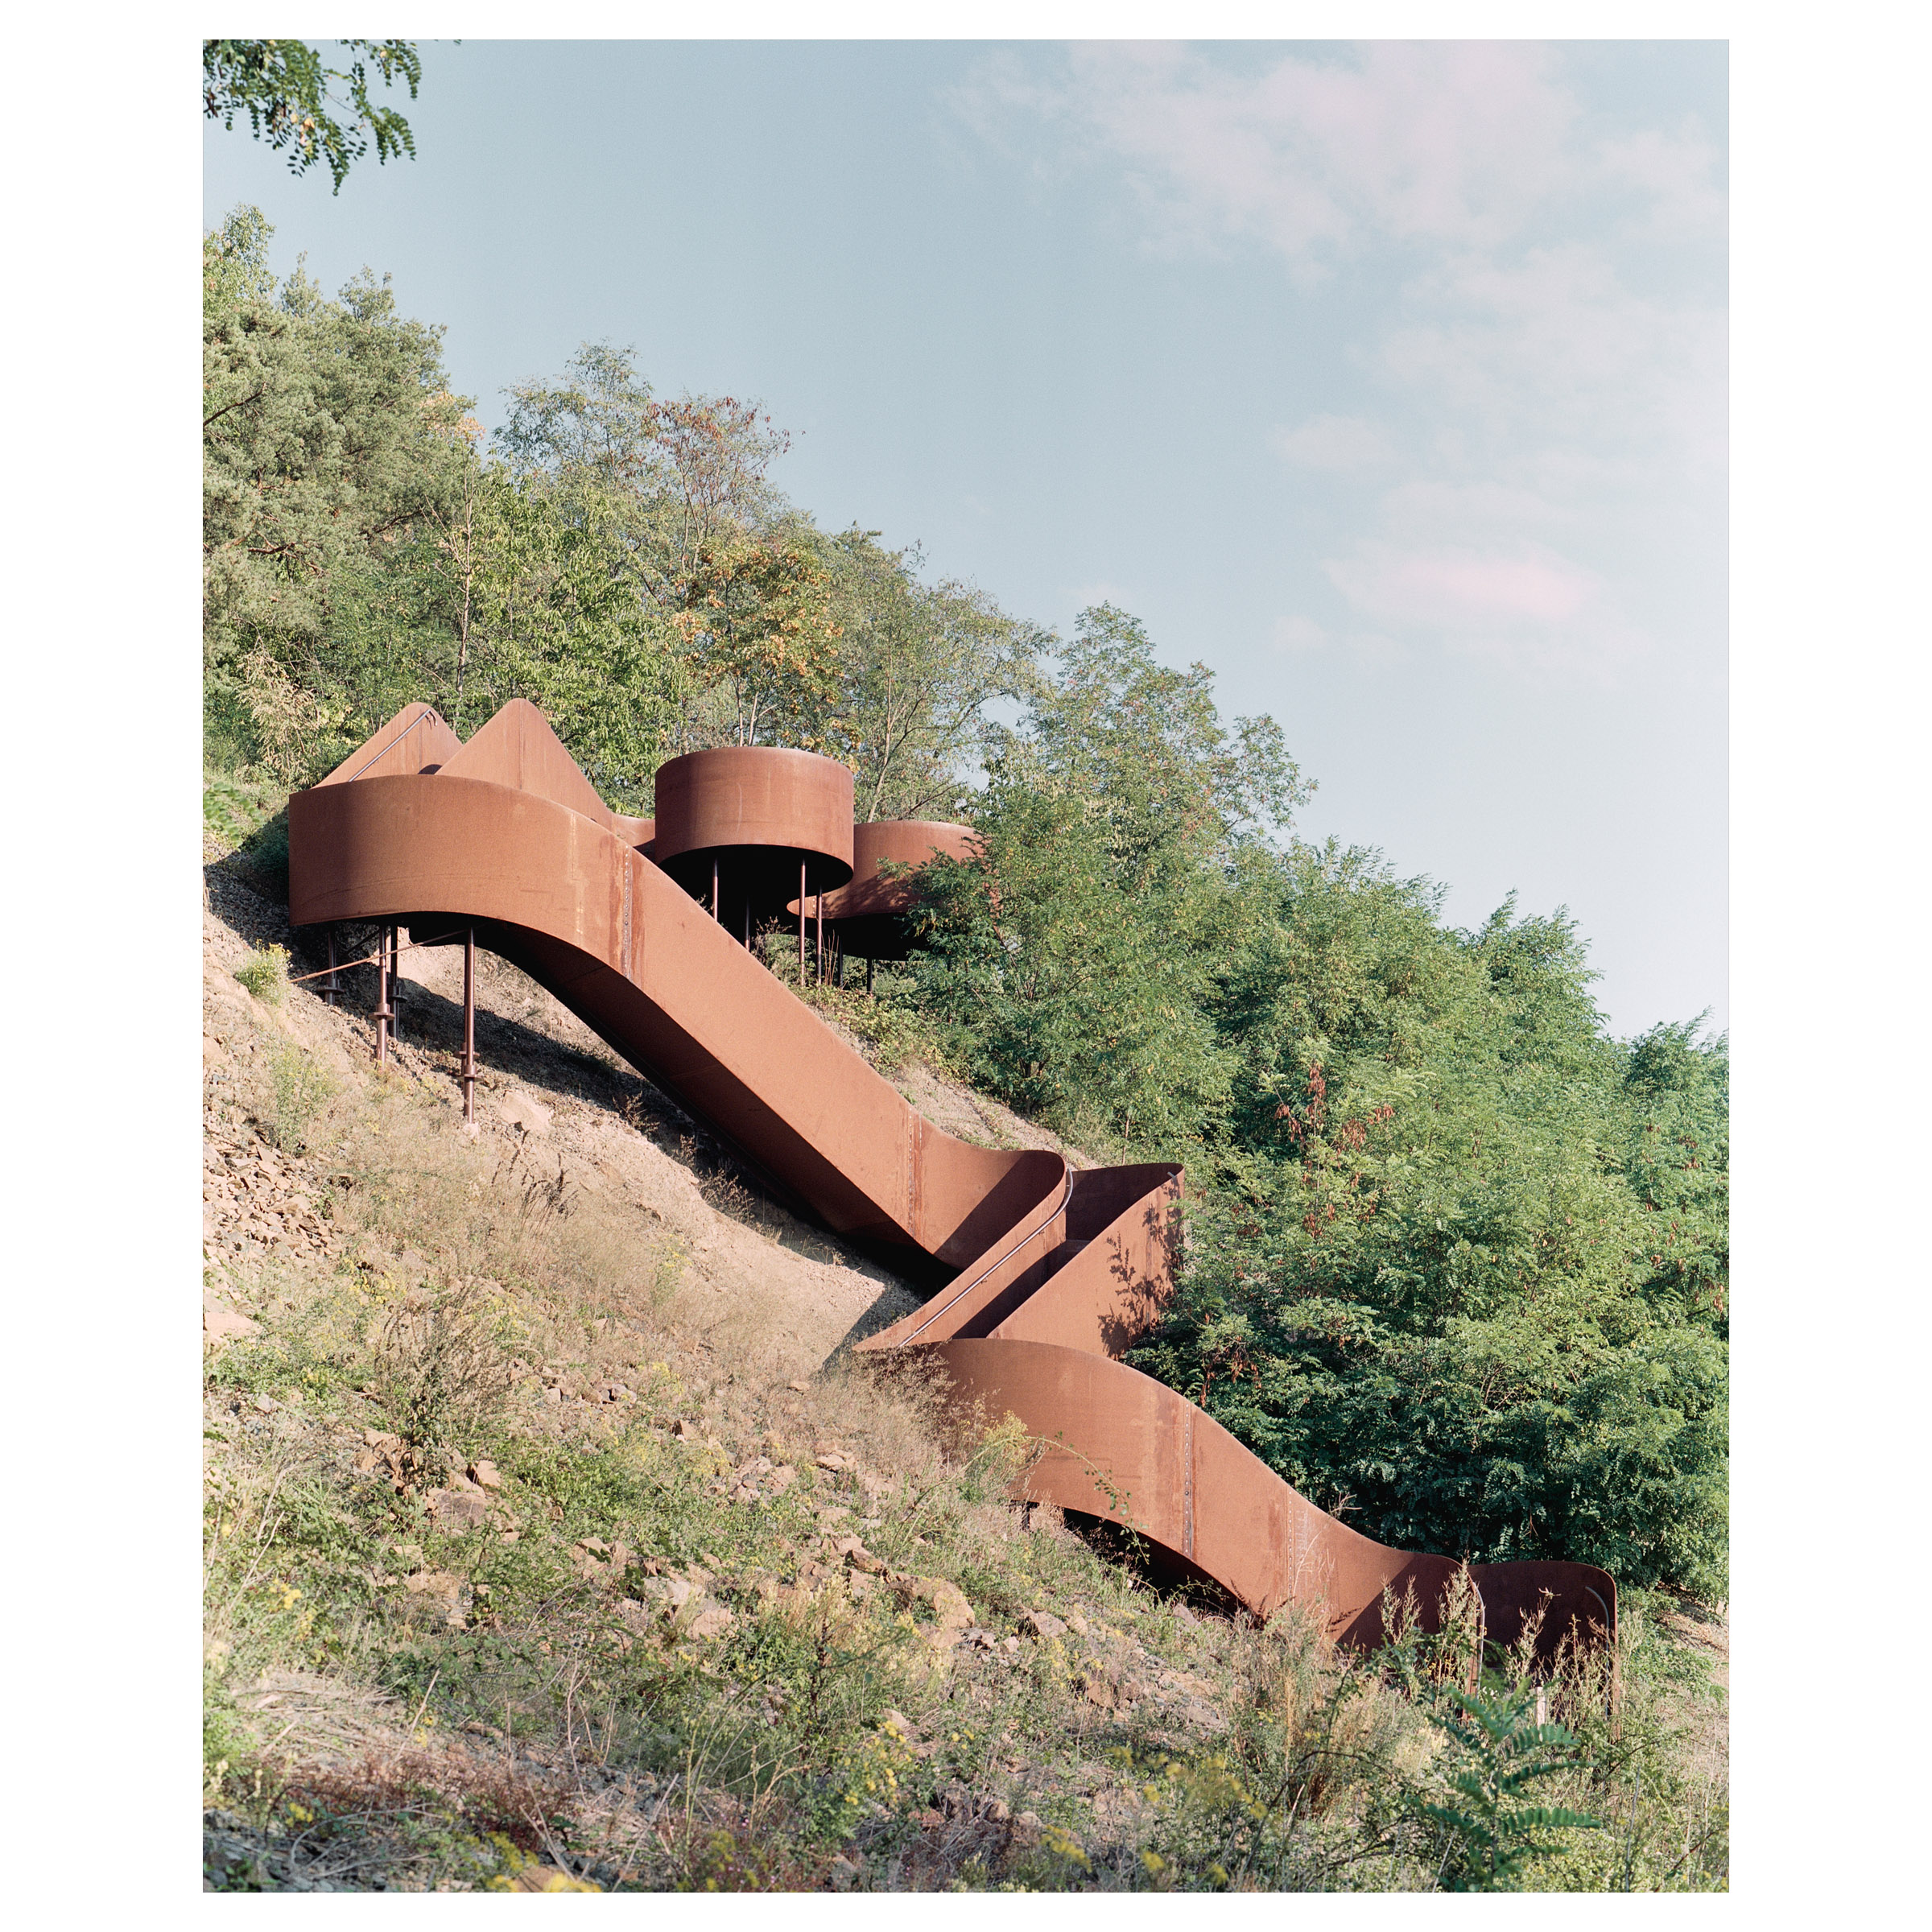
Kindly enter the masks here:
M 1126 782 L 1165 838 L 1105 775 L 1132 705 L 1084 724 L 1086 782 L 1012 782 L 1090 676 L 1074 655 L 995 765 L 985 858 L 937 869 L 895 993 L 1016 1105 L 1188 1161 L 1180 1293 L 1136 1366 L 1378 1540 L 1721 1594 L 1723 1043 L 1609 1039 L 1563 916 L 1451 931 L 1376 854 L 1242 835 L 1252 781 L 1208 804 L 1213 730 L 1190 817 L 1177 734 L 1142 723 Z

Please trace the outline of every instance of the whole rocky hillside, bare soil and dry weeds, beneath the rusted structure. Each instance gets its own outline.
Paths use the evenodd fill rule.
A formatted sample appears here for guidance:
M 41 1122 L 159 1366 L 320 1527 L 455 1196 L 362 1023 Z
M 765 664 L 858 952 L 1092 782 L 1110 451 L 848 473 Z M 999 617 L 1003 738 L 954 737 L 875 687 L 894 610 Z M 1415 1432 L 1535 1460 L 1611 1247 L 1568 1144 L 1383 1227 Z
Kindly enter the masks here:
M 1422 1808 L 1470 1748 L 1437 1689 L 1466 1677 L 1453 1638 L 1337 1658 L 1304 1619 L 1250 1629 L 1009 1505 L 1014 1430 L 985 1418 L 949 1457 L 931 1389 L 848 1360 L 910 1291 L 539 987 L 481 962 L 466 1128 L 460 954 L 406 956 L 377 1068 L 373 972 L 328 1005 L 290 981 L 321 960 L 272 869 L 218 856 L 207 879 L 211 1888 L 1464 1868 Z M 929 1068 L 895 1076 L 952 1132 L 1049 1144 Z M 1692 1658 L 1634 1611 L 1615 1739 L 1586 1671 L 1546 1690 L 1584 1752 L 1571 1797 L 1607 1804 L 1636 1766 L 1640 1801 L 1549 1833 L 1540 1884 L 1721 1874 Z

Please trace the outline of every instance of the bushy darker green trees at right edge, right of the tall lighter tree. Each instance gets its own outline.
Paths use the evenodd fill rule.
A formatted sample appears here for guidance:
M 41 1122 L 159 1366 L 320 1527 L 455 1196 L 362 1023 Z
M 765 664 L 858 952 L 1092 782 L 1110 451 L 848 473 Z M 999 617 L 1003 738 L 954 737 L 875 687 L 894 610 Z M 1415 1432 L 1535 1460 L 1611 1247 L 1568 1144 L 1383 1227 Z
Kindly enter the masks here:
M 1387 1542 L 1721 1588 L 1721 1045 L 1604 1037 L 1575 933 L 1256 860 L 1221 1188 L 1142 1366 Z

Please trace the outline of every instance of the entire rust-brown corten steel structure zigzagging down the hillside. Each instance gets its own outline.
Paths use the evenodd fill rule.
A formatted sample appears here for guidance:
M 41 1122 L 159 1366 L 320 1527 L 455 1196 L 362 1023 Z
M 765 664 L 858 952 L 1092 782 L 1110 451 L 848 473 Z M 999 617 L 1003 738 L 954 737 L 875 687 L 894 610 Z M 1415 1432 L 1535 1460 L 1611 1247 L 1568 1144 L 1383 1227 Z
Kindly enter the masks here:
M 1385 1592 L 1412 1592 L 1434 1627 L 1451 1559 L 1349 1530 L 1121 1360 L 1173 1285 L 1179 1167 L 1074 1169 L 954 1140 L 713 916 L 713 862 L 719 889 L 732 867 L 728 891 L 748 896 L 759 877 L 779 889 L 777 854 L 794 881 L 804 866 L 806 893 L 850 877 L 850 777 L 840 786 L 827 765 L 767 750 L 672 759 L 653 827 L 609 811 L 531 705 L 506 705 L 468 744 L 412 705 L 290 800 L 290 918 L 489 947 L 775 1192 L 904 1273 L 943 1279 L 862 1347 L 945 1364 L 962 1414 L 1018 1416 L 1045 1445 L 1026 1497 L 1128 1524 L 1260 1617 L 1320 1602 L 1339 1636 L 1372 1644 Z M 1615 1584 L 1590 1565 L 1472 1565 L 1470 1578 L 1493 1640 L 1515 1642 L 1538 1605 L 1546 1652 L 1571 1631 L 1615 1631 Z

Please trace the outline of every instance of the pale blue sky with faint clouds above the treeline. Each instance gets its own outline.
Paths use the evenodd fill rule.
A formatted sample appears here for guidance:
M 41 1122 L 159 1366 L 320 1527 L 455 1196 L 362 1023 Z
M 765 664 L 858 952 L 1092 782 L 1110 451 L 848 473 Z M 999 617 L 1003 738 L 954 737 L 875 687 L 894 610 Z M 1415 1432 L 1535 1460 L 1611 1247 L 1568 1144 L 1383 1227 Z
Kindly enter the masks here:
M 757 396 L 837 527 L 1101 597 L 1621 1032 L 1725 999 L 1721 44 L 427 46 L 340 197 L 211 126 L 205 216 L 365 263 L 460 388 L 632 344 Z

